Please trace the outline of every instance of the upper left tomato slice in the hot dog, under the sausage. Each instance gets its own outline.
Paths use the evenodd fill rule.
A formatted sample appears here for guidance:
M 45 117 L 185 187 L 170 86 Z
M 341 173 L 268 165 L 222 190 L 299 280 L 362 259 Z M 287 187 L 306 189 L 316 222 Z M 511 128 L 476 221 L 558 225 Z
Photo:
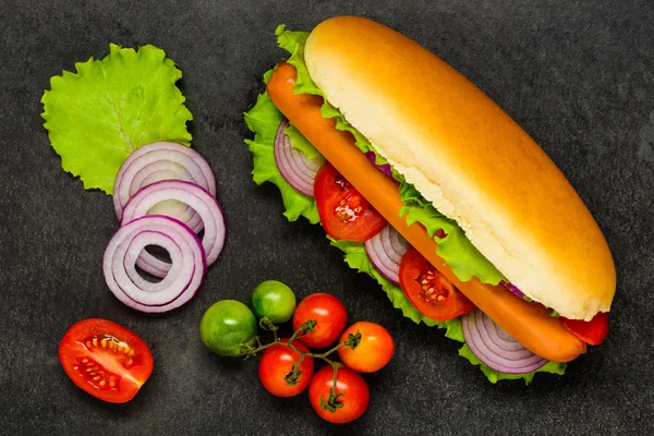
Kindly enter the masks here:
M 320 222 L 331 238 L 363 242 L 386 226 L 382 215 L 329 164 L 316 174 L 314 196 Z

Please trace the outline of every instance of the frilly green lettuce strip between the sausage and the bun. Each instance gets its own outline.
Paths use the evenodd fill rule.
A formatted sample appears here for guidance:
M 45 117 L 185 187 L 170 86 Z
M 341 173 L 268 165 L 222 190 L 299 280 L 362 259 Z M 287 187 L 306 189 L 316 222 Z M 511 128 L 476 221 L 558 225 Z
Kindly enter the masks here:
M 295 94 L 315 94 L 325 97 L 324 93 L 308 75 L 308 70 L 304 62 L 304 45 L 308 33 L 287 31 L 282 24 L 277 27 L 275 35 L 277 35 L 279 47 L 291 55 L 287 62 L 298 70 L 298 80 L 293 92 Z M 325 99 L 325 104 L 320 108 L 320 113 L 325 118 L 336 119 L 336 129 L 352 133 L 356 146 L 363 153 L 375 152 L 371 142 L 354 129 L 338 108 L 330 105 L 327 99 Z M 387 164 L 386 159 L 379 156 L 379 154 L 375 153 L 375 156 L 376 164 Z M 504 276 L 472 245 L 463 230 L 453 219 L 449 219 L 438 213 L 431 203 L 422 198 L 420 193 L 395 170 L 393 177 L 400 182 L 400 197 L 405 204 L 400 215 L 407 216 L 409 225 L 420 222 L 428 230 L 429 235 L 438 242 L 436 253 L 452 268 L 460 280 L 468 281 L 472 277 L 477 277 L 481 281 L 493 284 L 497 284 L 504 280 Z M 443 239 L 436 237 L 435 232 L 439 229 L 443 229 L 447 237 Z

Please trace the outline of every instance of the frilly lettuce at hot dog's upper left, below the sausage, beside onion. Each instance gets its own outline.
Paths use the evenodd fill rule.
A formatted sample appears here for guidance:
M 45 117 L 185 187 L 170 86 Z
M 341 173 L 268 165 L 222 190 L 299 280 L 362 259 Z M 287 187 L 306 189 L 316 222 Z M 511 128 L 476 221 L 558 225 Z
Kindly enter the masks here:
M 265 83 L 268 82 L 271 70 L 264 76 Z M 245 143 L 253 155 L 252 175 L 255 183 L 271 182 L 277 185 L 286 208 L 283 216 L 289 221 L 295 221 L 303 216 L 311 223 L 319 222 L 314 199 L 295 191 L 281 175 L 275 162 L 275 135 L 283 117 L 270 100 L 268 93 L 261 94 L 256 105 L 245 112 L 244 117 L 247 128 L 254 132 L 254 140 L 245 140 Z

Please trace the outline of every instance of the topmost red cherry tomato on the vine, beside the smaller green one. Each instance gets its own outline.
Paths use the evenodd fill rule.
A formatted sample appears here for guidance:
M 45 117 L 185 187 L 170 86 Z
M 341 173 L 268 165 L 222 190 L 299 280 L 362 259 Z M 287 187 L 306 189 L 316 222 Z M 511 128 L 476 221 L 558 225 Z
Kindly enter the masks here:
M 316 320 L 314 330 L 299 340 L 311 348 L 325 348 L 336 342 L 346 328 L 348 312 L 336 296 L 314 293 L 298 304 L 293 315 L 293 330 L 298 330 L 310 319 Z

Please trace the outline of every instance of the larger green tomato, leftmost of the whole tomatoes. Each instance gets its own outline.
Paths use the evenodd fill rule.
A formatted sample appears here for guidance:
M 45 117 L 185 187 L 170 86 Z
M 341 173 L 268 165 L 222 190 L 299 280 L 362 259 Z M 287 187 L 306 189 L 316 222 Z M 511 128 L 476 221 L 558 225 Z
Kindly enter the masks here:
M 222 300 L 211 305 L 199 322 L 199 338 L 218 355 L 240 356 L 241 343 L 254 344 L 257 323 L 245 304 Z

